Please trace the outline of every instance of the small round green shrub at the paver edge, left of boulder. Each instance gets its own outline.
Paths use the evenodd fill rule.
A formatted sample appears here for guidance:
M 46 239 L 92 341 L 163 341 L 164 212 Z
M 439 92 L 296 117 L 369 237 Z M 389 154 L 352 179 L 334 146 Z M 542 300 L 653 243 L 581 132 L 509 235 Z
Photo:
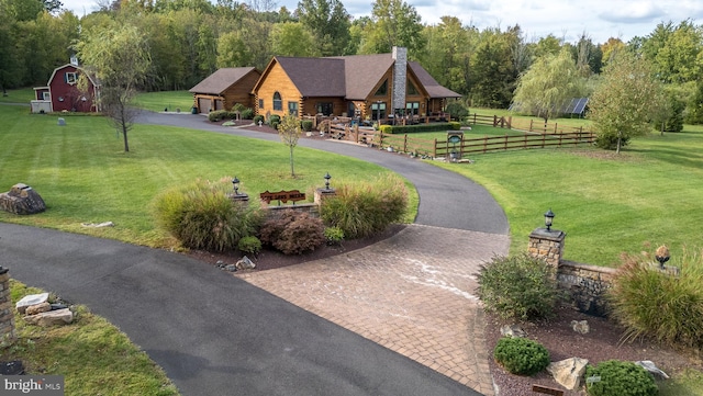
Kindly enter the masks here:
M 517 375 L 533 375 L 545 370 L 550 362 L 549 351 L 537 341 L 520 337 L 498 340 L 493 359 L 507 372 Z

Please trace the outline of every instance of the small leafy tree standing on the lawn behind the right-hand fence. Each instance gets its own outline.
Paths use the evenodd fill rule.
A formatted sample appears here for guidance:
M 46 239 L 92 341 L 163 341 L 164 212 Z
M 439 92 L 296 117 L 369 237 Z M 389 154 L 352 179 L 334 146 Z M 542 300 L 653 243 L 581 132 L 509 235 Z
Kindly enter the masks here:
M 660 90 L 644 58 L 618 52 L 605 67 L 603 81 L 589 103 L 589 118 L 598 132 L 596 145 L 620 154 L 632 137 L 650 132 Z

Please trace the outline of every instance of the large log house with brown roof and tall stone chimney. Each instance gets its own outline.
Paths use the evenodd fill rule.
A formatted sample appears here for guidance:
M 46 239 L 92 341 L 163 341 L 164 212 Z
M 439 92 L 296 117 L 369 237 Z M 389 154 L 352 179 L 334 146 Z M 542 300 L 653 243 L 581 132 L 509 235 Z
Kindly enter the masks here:
M 274 57 L 254 86 L 256 114 L 388 120 L 444 111 L 460 94 L 442 87 L 408 50 L 326 58 Z

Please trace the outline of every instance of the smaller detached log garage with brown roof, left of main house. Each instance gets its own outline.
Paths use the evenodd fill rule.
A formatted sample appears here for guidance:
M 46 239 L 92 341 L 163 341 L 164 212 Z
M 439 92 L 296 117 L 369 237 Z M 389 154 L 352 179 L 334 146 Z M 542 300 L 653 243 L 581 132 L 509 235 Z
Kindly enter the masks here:
M 205 114 L 213 110 L 232 110 L 236 103 L 254 109 L 252 90 L 260 76 L 253 67 L 219 69 L 190 89 L 193 106 L 198 113 Z

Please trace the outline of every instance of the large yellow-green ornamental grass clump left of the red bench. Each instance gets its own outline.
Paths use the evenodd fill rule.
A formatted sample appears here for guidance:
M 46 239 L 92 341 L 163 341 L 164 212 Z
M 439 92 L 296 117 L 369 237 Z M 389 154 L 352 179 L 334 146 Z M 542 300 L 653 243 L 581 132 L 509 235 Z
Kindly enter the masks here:
M 217 183 L 197 181 L 156 199 L 157 224 L 183 247 L 212 251 L 232 250 L 241 238 L 253 235 L 260 210 L 233 204 L 226 195 L 230 179 Z

